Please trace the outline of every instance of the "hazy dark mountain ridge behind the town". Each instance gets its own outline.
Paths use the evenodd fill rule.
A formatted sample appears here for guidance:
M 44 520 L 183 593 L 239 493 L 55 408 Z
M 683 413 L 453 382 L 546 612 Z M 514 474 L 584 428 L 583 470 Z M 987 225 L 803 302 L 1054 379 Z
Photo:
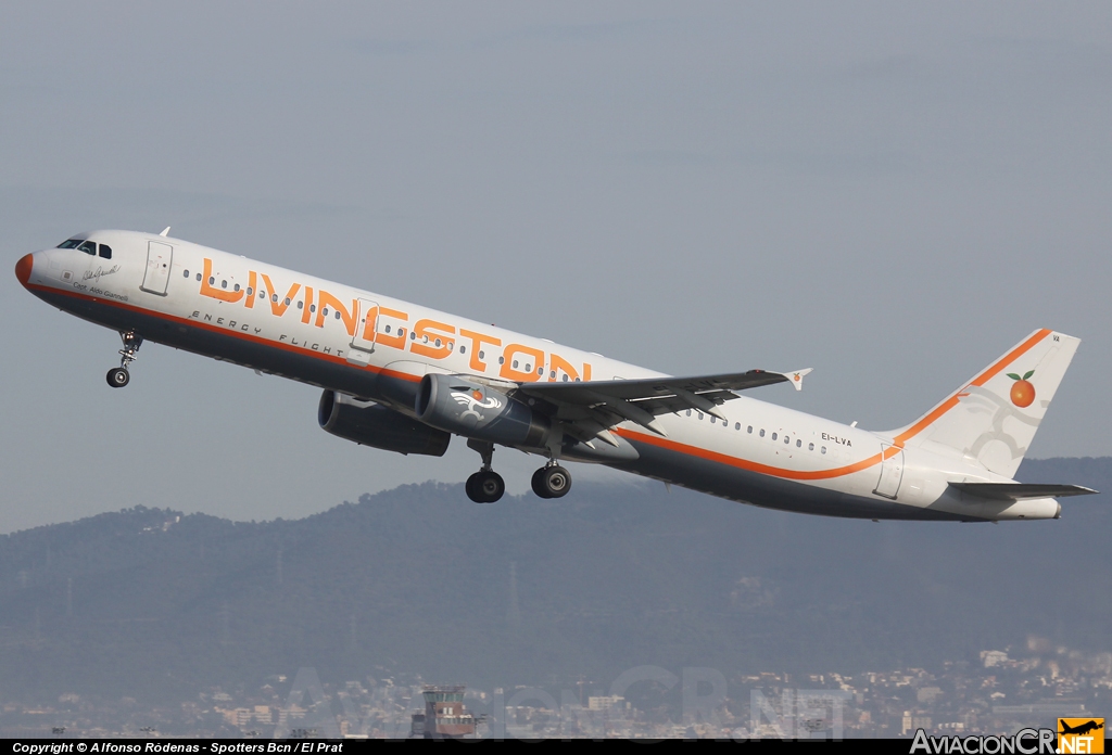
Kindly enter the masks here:
M 1112 491 L 1112 459 L 1024 462 Z M 884 670 L 1030 634 L 1109 650 L 1110 495 L 1051 522 L 843 521 L 663 485 L 467 501 L 407 485 L 297 521 L 136 507 L 0 537 L 0 695 L 183 699 L 314 666 L 490 687 L 655 664 Z

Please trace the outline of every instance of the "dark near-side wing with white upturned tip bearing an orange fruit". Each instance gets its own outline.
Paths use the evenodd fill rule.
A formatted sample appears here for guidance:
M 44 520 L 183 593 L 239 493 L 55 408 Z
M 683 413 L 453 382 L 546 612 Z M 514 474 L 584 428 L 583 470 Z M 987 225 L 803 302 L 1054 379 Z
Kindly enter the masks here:
M 612 439 L 606 430 L 627 420 L 665 435 L 655 422 L 656 415 L 687 409 L 705 412 L 725 422 L 716 407 L 736 399 L 734 391 L 788 382 L 801 390 L 803 376 L 808 372 L 810 369 L 795 372 L 749 370 L 695 378 L 522 383 L 518 390 L 555 405 L 557 419 L 576 425 L 582 440 L 597 435 L 609 443 Z

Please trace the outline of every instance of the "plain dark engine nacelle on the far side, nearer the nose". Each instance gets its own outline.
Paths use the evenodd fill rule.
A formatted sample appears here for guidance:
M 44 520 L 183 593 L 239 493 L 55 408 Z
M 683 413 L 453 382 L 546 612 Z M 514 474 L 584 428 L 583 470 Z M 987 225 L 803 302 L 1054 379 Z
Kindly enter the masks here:
M 344 440 L 405 454 L 443 456 L 451 441 L 443 430 L 374 401 L 359 401 L 335 391 L 325 391 L 320 396 L 317 422 L 325 432 Z

